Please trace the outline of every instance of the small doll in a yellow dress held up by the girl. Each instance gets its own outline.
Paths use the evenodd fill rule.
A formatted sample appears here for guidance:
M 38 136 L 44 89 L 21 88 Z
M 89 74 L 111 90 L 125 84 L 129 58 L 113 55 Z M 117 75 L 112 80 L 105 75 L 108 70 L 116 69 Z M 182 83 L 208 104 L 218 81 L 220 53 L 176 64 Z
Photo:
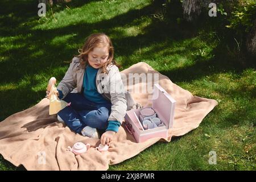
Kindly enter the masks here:
M 68 105 L 67 102 L 60 100 L 57 96 L 57 88 L 55 84 L 56 78 L 51 77 L 47 86 L 47 90 L 49 91 L 47 96 L 49 98 L 49 115 L 57 114 L 61 109 Z

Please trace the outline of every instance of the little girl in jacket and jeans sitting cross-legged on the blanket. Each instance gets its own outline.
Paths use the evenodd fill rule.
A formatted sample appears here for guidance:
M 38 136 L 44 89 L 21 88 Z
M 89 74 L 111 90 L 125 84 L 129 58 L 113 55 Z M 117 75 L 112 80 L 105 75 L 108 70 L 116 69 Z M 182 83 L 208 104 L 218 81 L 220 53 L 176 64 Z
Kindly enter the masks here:
M 114 48 L 105 34 L 90 35 L 72 59 L 63 80 L 57 86 L 60 99 L 71 104 L 57 113 L 59 121 L 76 133 L 112 141 L 127 110 L 127 101 Z M 77 87 L 77 93 L 72 90 Z M 47 93 L 48 94 L 48 93 Z

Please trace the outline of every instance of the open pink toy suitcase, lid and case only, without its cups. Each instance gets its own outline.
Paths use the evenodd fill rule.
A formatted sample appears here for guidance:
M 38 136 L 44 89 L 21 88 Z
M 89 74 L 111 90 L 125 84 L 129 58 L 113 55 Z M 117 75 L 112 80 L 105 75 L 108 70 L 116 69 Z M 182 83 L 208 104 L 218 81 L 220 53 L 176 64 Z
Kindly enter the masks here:
M 134 136 L 138 143 L 155 137 L 167 138 L 168 129 L 172 128 L 174 122 L 176 101 L 159 84 L 154 84 L 154 91 L 151 101 L 151 109 L 155 111 L 157 117 L 160 118 L 160 121 L 162 121 L 165 126 L 145 130 L 142 126 L 142 123 L 139 121 L 140 109 L 132 109 L 126 111 L 126 129 L 129 131 L 130 134 Z

